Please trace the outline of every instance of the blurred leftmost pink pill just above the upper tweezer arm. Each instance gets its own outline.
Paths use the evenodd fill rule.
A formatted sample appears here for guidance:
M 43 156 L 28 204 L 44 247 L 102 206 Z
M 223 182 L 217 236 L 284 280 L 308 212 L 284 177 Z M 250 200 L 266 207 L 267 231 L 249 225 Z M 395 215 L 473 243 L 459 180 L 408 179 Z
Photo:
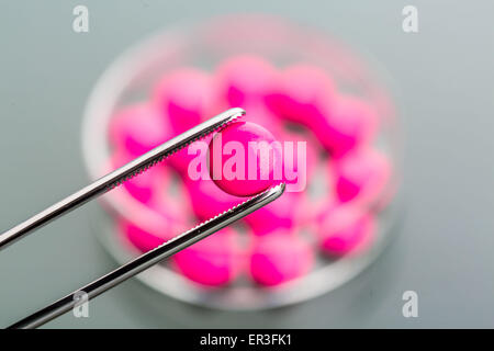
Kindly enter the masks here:
M 149 104 L 137 104 L 117 112 L 110 121 L 110 140 L 119 150 L 141 156 L 171 137 L 159 112 Z

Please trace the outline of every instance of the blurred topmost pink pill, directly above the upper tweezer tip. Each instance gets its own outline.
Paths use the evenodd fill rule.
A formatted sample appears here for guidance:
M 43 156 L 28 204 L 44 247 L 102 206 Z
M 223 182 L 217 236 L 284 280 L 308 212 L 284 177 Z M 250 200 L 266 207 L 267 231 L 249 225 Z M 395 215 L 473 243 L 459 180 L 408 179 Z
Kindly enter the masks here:
M 245 55 L 222 64 L 216 77 L 220 93 L 231 106 L 237 107 L 261 101 L 272 90 L 276 72 L 261 57 Z

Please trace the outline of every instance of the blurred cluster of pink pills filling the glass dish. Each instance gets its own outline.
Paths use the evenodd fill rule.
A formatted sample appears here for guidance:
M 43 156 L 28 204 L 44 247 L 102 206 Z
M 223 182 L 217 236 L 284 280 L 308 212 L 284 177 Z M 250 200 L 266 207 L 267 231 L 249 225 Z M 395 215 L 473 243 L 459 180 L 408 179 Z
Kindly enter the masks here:
M 380 116 L 368 102 L 338 91 L 326 71 L 306 64 L 276 68 L 261 57 L 243 55 L 214 72 L 175 69 L 149 97 L 112 117 L 113 168 L 229 107 L 243 107 L 247 115 L 222 132 L 224 139 L 246 143 L 254 135 L 306 141 L 305 190 L 285 192 L 239 225 L 173 256 L 171 267 L 189 280 L 213 287 L 242 275 L 273 286 L 307 274 L 316 258 L 357 256 L 371 247 L 379 224 L 375 208 L 385 205 L 382 195 L 392 178 L 391 161 L 375 146 Z M 210 171 L 192 180 L 194 157 L 183 149 L 117 190 L 169 224 L 154 225 L 138 213 L 133 219 L 115 218 L 126 242 L 150 250 L 245 201 L 252 189 L 267 188 L 216 181 Z M 314 195 L 310 189 L 316 173 L 323 174 L 325 186 Z

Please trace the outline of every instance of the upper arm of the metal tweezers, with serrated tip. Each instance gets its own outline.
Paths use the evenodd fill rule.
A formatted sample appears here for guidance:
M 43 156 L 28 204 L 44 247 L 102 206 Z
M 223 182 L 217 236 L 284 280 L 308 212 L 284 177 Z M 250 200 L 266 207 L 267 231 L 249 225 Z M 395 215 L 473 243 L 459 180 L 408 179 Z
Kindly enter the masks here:
M 179 136 L 161 144 L 143 156 L 132 160 L 117 170 L 98 179 L 93 183 L 79 190 L 78 192 L 65 197 L 48 208 L 40 212 L 12 229 L 0 235 L 0 250 L 21 239 L 33 230 L 48 224 L 53 219 L 67 214 L 68 212 L 81 206 L 88 201 L 105 193 L 109 190 L 120 185 L 126 180 L 139 174 L 156 163 L 162 161 L 166 157 L 200 139 L 201 137 L 216 131 L 221 131 L 231 122 L 243 116 L 245 111 L 242 109 L 227 110 L 204 123 L 180 134 Z

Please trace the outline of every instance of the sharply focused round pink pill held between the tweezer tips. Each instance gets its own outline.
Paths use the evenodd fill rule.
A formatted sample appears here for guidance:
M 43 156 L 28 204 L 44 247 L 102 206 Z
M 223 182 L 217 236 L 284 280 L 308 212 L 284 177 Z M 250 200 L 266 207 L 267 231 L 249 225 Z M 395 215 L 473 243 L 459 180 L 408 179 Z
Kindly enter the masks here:
M 282 159 L 274 137 L 260 125 L 236 122 L 210 144 L 210 174 L 225 192 L 255 195 L 282 180 Z

